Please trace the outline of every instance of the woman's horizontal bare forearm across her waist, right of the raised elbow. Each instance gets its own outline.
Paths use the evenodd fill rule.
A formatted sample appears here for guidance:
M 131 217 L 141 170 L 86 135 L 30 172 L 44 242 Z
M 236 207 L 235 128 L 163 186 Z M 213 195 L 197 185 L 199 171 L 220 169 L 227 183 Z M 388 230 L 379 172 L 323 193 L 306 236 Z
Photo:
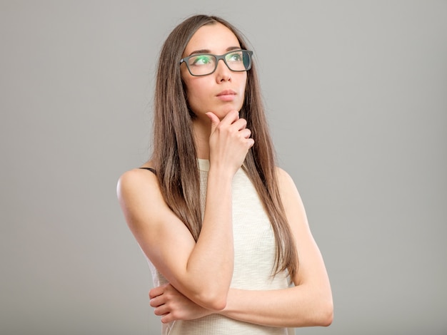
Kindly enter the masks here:
M 230 289 L 224 316 L 263 326 L 328 326 L 332 299 L 305 285 L 272 291 Z

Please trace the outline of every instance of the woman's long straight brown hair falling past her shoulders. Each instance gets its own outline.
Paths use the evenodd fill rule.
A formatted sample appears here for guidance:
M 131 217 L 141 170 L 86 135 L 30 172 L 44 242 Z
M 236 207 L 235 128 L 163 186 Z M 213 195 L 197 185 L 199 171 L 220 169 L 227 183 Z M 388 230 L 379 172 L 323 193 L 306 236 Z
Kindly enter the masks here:
M 241 48 L 247 48 L 241 33 L 224 19 L 206 15 L 189 17 L 176 26 L 161 48 L 154 95 L 154 168 L 164 200 L 196 240 L 199 238 L 202 219 L 199 170 L 192 133 L 194 114 L 186 101 L 179 60 L 194 33 L 201 26 L 217 22 L 233 31 Z M 273 144 L 254 64 L 247 73 L 245 99 L 240 115 L 247 120 L 247 128 L 251 130 L 255 143 L 246 155 L 243 168 L 253 182 L 271 221 L 276 241 L 274 272 L 288 270 L 293 277 L 298 271 L 298 254 L 278 192 Z

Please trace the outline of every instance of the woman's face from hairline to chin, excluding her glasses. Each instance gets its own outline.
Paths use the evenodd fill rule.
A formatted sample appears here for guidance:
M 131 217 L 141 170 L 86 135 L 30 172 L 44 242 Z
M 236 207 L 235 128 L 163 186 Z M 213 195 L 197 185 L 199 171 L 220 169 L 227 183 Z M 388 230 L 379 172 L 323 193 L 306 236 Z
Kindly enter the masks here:
M 202 26 L 189 41 L 182 57 L 196 53 L 223 55 L 241 46 L 234 33 L 223 24 Z M 181 64 L 181 78 L 186 85 L 189 107 L 198 118 L 213 112 L 224 118 L 231 110 L 241 110 L 247 81 L 247 73 L 231 71 L 219 60 L 214 73 L 207 76 L 191 76 L 186 64 Z

